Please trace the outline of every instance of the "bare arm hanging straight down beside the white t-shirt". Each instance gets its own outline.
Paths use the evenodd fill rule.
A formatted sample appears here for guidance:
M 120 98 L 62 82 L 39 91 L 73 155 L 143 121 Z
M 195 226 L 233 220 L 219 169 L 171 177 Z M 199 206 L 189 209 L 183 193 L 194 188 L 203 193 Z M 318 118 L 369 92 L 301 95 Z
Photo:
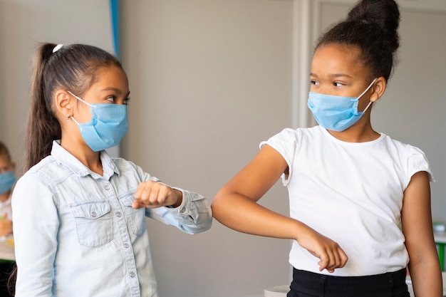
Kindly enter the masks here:
M 442 276 L 437 255 L 430 208 L 427 172 L 413 175 L 405 189 L 401 211 L 409 271 L 415 296 L 442 297 Z

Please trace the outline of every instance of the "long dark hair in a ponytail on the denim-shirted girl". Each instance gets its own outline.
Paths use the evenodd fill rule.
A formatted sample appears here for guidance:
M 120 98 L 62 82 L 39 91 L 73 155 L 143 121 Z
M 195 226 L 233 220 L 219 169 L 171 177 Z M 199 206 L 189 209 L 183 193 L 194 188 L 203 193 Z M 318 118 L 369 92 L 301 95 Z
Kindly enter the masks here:
M 112 65 L 122 68 L 115 56 L 95 46 L 72 44 L 53 53 L 55 47 L 55 43 L 43 43 L 33 56 L 26 170 L 50 155 L 53 140 L 61 139 L 61 125 L 53 106 L 54 93 L 64 89 L 81 94 L 95 81 L 98 68 Z

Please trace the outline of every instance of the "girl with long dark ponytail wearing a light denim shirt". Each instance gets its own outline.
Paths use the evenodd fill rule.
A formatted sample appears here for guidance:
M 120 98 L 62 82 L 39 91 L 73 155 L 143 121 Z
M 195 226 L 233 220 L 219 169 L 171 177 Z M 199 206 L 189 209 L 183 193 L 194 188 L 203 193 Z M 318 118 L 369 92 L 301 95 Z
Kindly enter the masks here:
M 196 234 L 204 197 L 111 158 L 128 130 L 128 78 L 94 46 L 42 44 L 33 60 L 26 169 L 14 189 L 16 297 L 158 296 L 145 217 Z

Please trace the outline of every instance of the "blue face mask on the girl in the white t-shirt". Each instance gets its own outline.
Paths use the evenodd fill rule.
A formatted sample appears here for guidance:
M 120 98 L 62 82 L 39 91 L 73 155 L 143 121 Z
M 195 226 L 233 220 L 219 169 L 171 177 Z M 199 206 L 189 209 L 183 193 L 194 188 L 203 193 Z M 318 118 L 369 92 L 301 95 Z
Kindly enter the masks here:
M 322 127 L 337 132 L 346 130 L 358 122 L 365 111 L 368 110 L 371 101 L 362 112 L 358 112 L 358 102 L 375 81 L 376 78 L 358 97 L 342 97 L 310 92 L 308 94 L 308 108 Z

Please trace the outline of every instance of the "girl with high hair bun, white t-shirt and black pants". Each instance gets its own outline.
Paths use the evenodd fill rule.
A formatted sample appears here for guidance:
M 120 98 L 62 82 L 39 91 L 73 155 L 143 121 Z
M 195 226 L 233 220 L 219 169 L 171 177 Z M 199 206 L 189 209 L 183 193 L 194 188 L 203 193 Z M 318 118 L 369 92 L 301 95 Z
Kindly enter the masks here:
M 308 108 L 318 126 L 285 129 L 220 189 L 214 217 L 249 234 L 294 239 L 288 297 L 442 296 L 430 165 L 417 147 L 373 130 L 399 47 L 393 0 L 363 0 L 313 53 Z M 256 202 L 282 177 L 290 217 Z

